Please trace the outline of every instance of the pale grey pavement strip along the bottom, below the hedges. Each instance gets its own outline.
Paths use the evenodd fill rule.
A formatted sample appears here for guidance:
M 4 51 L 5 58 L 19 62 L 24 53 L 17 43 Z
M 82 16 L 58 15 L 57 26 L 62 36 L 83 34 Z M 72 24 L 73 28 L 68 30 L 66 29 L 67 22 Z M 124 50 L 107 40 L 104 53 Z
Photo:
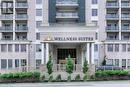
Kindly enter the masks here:
M 0 87 L 130 87 L 130 81 L 14 83 L 0 84 Z

